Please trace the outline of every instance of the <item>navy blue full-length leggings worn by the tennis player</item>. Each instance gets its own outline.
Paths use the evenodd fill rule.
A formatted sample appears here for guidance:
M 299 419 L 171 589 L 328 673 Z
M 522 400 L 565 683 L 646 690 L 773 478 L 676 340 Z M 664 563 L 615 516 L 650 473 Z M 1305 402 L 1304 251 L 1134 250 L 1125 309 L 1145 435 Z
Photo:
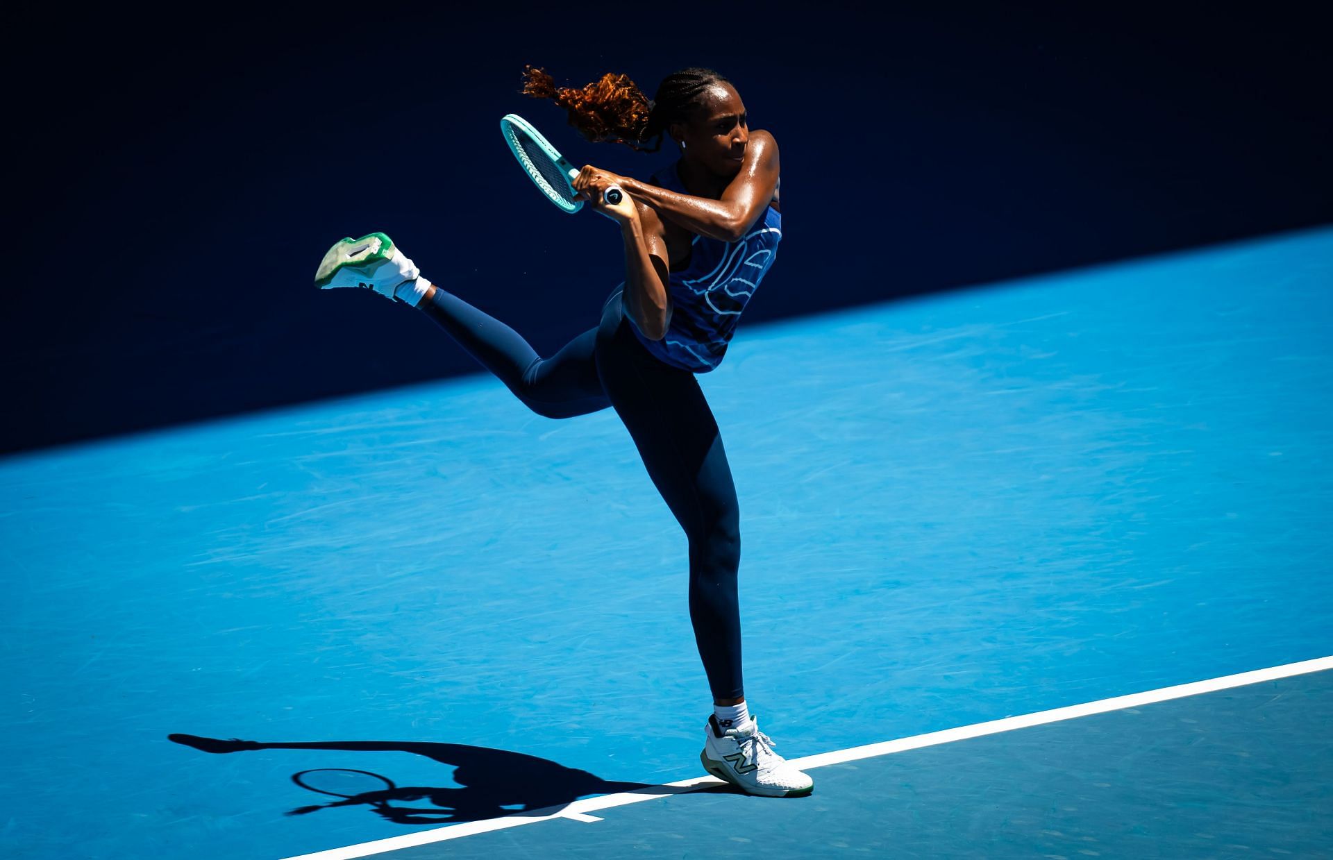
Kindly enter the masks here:
M 689 539 L 689 619 L 708 685 L 714 699 L 740 699 L 740 507 L 717 421 L 693 372 L 659 361 L 639 343 L 619 288 L 603 305 L 601 323 L 549 359 L 439 285 L 421 309 L 537 415 L 616 409 Z

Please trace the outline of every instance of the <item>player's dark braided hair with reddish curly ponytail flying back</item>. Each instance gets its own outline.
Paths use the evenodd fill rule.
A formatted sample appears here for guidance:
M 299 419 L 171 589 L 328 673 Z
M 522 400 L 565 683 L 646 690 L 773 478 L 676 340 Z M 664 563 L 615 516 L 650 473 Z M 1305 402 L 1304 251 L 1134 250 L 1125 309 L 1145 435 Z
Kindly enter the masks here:
M 644 95 L 628 75 L 607 72 L 583 89 L 556 87 L 544 69 L 524 67 L 523 95 L 553 99 L 569 115 L 569 124 L 585 140 L 620 143 L 639 152 L 657 152 L 672 123 L 688 123 L 701 105 L 700 96 L 713 84 L 730 81 L 709 68 L 692 65 L 672 72 L 657 84 L 656 97 Z M 640 145 L 657 137 L 651 149 Z

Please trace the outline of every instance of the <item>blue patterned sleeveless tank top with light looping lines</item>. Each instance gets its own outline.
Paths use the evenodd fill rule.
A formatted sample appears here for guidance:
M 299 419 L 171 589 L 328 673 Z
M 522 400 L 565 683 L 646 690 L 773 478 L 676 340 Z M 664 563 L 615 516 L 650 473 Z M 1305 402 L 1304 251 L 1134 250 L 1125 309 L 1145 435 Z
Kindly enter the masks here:
M 680 181 L 677 164 L 672 161 L 652 179 L 685 195 L 689 192 Z M 712 371 L 726 353 L 741 311 L 773 265 L 781 239 L 782 215 L 772 205 L 764 207 L 764 215 L 738 241 L 694 236 L 689 267 L 670 273 L 672 317 L 666 336 L 645 337 L 631 317 L 635 335 L 648 352 L 672 367 L 694 373 Z

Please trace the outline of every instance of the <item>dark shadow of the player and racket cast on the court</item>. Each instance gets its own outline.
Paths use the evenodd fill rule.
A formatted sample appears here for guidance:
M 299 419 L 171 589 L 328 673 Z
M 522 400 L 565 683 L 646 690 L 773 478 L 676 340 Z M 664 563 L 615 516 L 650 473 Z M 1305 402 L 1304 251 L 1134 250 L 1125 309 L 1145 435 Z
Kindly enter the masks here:
M 323 791 L 317 785 L 296 780 L 297 784 L 341 796 L 343 800 L 292 809 L 288 815 L 308 815 L 333 807 L 368 805 L 376 815 L 399 824 L 460 824 L 481 821 L 507 815 L 541 811 L 551 815 L 569 803 L 589 795 L 611 795 L 641 788 L 647 783 L 615 783 L 587 771 L 508 749 L 469 747 L 467 744 L 437 744 L 424 741 L 335 740 L 292 744 L 261 744 L 253 740 L 219 740 L 195 735 L 168 735 L 168 740 L 203 752 L 225 753 L 251 749 L 337 749 L 352 752 L 411 752 L 453 765 L 453 781 L 459 787 L 395 785 L 389 779 L 367 771 L 341 771 L 363 775 L 363 780 L 349 780 L 347 791 Z M 303 773 L 309 773 L 308 771 Z M 296 779 L 299 775 L 293 775 Z M 369 788 L 369 791 L 365 791 Z M 670 793 L 669 788 L 663 789 Z M 433 808 L 407 808 L 389 805 L 391 801 L 427 800 Z

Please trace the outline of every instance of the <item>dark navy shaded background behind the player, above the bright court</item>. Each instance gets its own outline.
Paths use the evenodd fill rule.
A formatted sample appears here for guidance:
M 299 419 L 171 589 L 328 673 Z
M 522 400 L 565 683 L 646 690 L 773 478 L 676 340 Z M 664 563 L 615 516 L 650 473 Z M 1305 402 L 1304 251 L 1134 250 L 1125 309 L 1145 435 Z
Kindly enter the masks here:
M 388 232 L 539 352 L 593 325 L 619 235 L 541 200 L 497 121 L 521 113 L 571 161 L 640 177 L 676 149 L 583 141 L 519 93 L 525 63 L 649 95 L 709 65 L 776 135 L 784 243 L 738 337 L 1333 220 L 1326 31 L 1280 7 L 532 13 L 11 17 L 0 451 L 479 371 L 423 315 L 313 289 L 347 235 Z

